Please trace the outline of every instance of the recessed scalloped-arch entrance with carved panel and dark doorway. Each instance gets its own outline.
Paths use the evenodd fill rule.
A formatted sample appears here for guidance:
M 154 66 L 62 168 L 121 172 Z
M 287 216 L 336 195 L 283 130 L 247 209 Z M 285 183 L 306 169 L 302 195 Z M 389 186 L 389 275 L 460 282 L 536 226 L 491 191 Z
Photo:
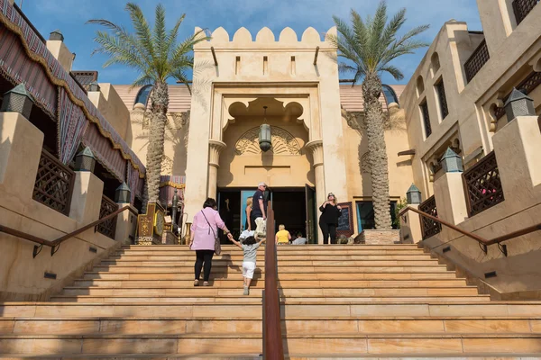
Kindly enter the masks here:
M 220 154 L 216 187 L 220 212 L 229 229 L 245 229 L 246 199 L 258 183 L 265 182 L 277 225 L 284 224 L 293 237 L 301 233 L 316 242 L 316 221 L 312 219 L 315 169 L 306 146 L 309 132 L 300 119 L 303 112 L 300 103 L 284 104 L 274 97 L 258 97 L 247 105 L 234 102 L 228 107 L 231 119 L 222 138 L 227 146 Z M 272 148 L 267 152 L 259 147 L 263 122 L 271 125 Z

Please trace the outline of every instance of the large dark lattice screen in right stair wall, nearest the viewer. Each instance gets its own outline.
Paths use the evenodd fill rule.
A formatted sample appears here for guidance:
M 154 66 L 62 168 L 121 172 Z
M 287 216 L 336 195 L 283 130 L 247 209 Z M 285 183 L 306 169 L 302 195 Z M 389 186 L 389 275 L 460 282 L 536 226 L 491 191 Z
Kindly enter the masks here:
M 470 216 L 505 200 L 494 151 L 465 171 L 463 179 Z

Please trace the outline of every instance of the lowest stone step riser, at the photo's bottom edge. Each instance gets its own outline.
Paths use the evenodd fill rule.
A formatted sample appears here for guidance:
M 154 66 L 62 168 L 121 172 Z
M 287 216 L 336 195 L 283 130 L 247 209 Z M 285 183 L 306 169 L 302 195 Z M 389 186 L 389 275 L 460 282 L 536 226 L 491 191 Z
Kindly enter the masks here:
M 284 338 L 289 356 L 453 356 L 541 353 L 541 335 L 534 334 L 328 334 L 293 335 Z M 5 335 L 0 337 L 4 354 L 124 355 L 124 354 L 258 354 L 257 334 L 144 335 Z

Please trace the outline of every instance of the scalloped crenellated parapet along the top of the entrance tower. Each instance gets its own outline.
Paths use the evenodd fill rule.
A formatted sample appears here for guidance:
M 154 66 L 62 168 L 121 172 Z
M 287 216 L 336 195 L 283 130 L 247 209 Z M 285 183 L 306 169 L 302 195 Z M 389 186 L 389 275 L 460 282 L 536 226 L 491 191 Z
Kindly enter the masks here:
M 196 27 L 196 32 L 201 31 L 201 28 Z M 223 27 L 217 28 L 210 35 L 211 39 L 208 41 L 202 41 L 197 44 L 196 49 L 208 49 L 210 47 L 216 48 L 260 48 L 260 47 L 284 47 L 291 48 L 313 48 L 319 46 L 321 48 L 334 48 L 332 43 L 328 41 L 329 35 L 336 35 L 336 28 L 333 26 L 322 39 L 322 34 L 316 31 L 313 27 L 308 27 L 300 37 L 297 32 L 287 27 L 280 31 L 280 34 L 276 36 L 268 27 L 262 28 L 257 32 L 255 37 L 248 29 L 242 27 L 234 32 L 233 37 L 225 31 Z M 300 38 L 300 39 L 299 39 Z M 277 40 L 278 39 L 278 40 Z

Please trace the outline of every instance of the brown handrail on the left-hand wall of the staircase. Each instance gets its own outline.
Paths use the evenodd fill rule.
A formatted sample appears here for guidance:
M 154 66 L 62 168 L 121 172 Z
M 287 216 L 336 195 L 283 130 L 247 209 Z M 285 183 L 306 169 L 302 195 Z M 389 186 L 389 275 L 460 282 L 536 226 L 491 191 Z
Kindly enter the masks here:
M 118 209 L 117 211 L 110 213 L 109 215 L 105 216 L 102 219 L 90 222 L 89 224 L 83 226 L 82 228 L 72 231 L 69 234 L 63 235 L 60 238 L 57 238 L 52 241 L 44 239 L 44 238 L 38 238 L 26 232 L 9 228 L 4 225 L 0 225 L 0 232 L 5 232 L 6 234 L 13 235 L 16 238 L 24 238 L 25 240 L 35 242 L 36 244 L 40 244 L 39 246 L 38 245 L 34 246 L 33 251 L 32 251 L 32 257 L 37 257 L 37 255 L 40 254 L 41 249 L 43 248 L 43 245 L 50 247 L 50 256 L 52 257 L 59 250 L 60 244 L 66 241 L 67 239 L 73 238 L 77 236 L 78 234 L 80 234 L 81 232 L 86 231 L 87 229 L 94 228 L 97 225 L 101 224 L 102 222 L 112 219 L 119 213 L 126 210 L 132 212 L 134 215 L 137 215 L 137 212 L 134 211 L 130 205 L 126 205 L 124 206 L 124 208 Z

